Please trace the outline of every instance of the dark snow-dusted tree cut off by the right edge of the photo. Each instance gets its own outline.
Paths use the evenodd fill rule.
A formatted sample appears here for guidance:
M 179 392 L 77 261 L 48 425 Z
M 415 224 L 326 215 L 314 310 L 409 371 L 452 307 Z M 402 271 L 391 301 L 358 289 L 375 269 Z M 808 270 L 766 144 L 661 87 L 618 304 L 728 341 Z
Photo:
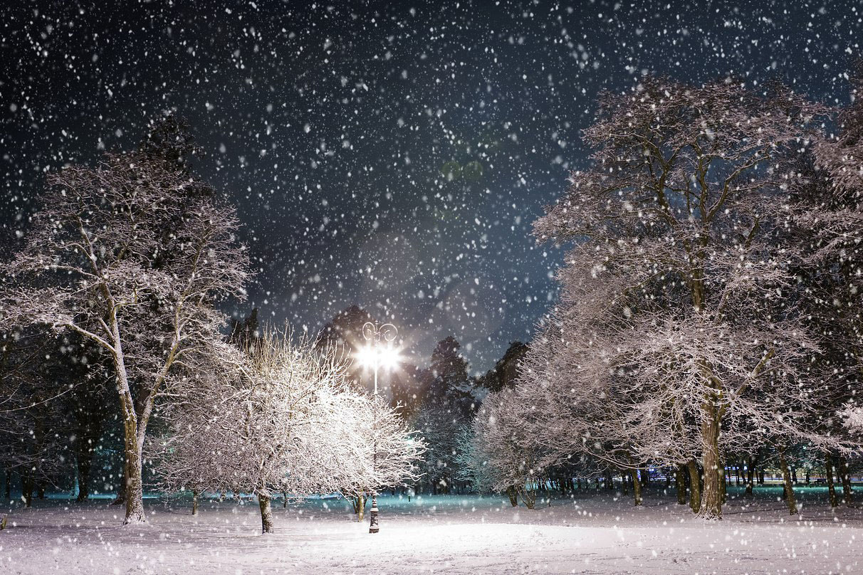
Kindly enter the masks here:
M 823 394 L 823 413 L 814 422 L 824 433 L 845 436 L 860 445 L 854 415 L 860 412 L 863 374 L 863 66 L 851 78 L 851 98 L 836 117 L 835 131 L 824 134 L 798 163 L 791 191 L 797 200 L 797 241 L 805 259 L 798 276 L 803 285 L 800 306 L 824 353 L 811 366 L 832 380 Z M 851 503 L 847 453 L 823 450 L 831 505 L 838 504 L 833 472 L 842 480 L 845 502 Z

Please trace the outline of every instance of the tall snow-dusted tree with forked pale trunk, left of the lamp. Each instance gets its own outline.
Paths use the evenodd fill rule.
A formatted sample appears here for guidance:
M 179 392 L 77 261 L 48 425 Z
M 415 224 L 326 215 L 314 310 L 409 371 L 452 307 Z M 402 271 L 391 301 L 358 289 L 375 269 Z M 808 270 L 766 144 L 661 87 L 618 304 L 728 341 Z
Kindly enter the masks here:
M 48 176 L 26 245 L 3 265 L 3 326 L 71 330 L 113 363 L 125 434 L 124 522 L 144 522 L 142 447 L 173 368 L 222 339 L 219 297 L 243 297 L 229 205 L 150 153 Z

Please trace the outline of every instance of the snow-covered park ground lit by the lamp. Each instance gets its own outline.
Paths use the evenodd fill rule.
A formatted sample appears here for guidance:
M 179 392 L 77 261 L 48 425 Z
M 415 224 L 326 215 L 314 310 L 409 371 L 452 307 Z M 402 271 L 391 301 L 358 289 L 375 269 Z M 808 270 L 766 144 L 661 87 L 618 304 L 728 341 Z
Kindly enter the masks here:
M 382 497 L 376 535 L 343 500 L 316 499 L 277 503 L 267 536 L 255 502 L 205 500 L 191 516 L 187 500 L 149 499 L 149 524 L 121 527 L 104 500 L 49 499 L 0 512 L 0 573 L 863 573 L 863 510 L 834 513 L 823 488 L 800 489 L 790 518 L 778 493 L 733 491 L 721 522 L 657 491 L 640 509 L 592 490 L 532 511 L 499 497 Z

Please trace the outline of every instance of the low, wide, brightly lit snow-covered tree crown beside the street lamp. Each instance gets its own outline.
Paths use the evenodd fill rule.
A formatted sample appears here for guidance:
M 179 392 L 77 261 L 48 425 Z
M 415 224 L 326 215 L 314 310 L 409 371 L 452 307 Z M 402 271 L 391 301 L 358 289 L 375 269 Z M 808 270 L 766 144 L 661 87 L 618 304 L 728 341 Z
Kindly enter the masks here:
M 242 353 L 223 349 L 206 361 L 209 372 L 192 370 L 176 384 L 181 399 L 154 441 L 168 489 L 252 493 L 271 533 L 276 493 L 354 495 L 418 478 L 423 442 L 350 385 L 336 348 L 266 328 Z

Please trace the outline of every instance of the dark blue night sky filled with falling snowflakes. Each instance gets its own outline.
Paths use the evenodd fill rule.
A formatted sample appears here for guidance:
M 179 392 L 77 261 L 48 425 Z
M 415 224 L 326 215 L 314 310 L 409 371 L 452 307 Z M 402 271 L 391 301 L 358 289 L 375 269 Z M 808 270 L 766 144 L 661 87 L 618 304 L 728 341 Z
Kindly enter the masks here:
M 844 103 L 863 41 L 861 0 L 3 4 L 4 250 L 45 172 L 176 109 L 259 268 L 226 311 L 318 329 L 357 303 L 474 371 L 554 302 L 564 252 L 531 224 L 587 165 L 598 91 L 730 73 Z

